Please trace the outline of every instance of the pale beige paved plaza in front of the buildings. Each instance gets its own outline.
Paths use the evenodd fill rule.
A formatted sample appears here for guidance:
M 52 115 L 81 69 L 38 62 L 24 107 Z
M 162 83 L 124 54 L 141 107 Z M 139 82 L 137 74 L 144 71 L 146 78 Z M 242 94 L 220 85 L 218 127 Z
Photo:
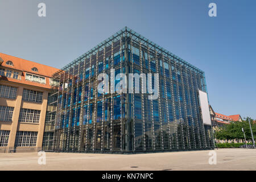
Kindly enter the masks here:
M 133 155 L 47 152 L 46 165 L 38 164 L 38 153 L 0 154 L 0 170 L 256 170 L 256 149 L 214 151 L 215 165 L 209 164 L 210 150 Z

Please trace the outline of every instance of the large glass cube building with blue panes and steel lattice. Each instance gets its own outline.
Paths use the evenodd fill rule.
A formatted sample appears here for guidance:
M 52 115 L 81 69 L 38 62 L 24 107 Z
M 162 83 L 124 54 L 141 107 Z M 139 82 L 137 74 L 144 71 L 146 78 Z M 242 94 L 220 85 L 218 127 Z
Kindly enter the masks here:
M 159 73 L 159 97 L 150 93 L 98 92 L 100 73 Z M 148 78 L 148 76 L 147 76 Z M 121 78 L 115 79 L 115 84 Z M 204 72 L 125 27 L 53 75 L 44 150 L 154 152 L 214 148 L 204 125 L 198 90 Z M 129 83 L 128 83 L 129 84 Z M 137 85 L 138 86 L 138 85 Z

